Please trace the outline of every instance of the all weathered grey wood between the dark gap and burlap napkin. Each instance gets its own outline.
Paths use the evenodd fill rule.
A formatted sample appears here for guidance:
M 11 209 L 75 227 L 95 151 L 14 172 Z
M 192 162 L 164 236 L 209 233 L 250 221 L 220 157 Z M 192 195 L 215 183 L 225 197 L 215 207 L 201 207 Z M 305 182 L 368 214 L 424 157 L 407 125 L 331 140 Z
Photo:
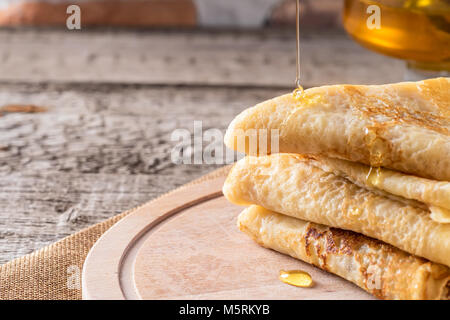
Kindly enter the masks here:
M 279 89 L 0 85 L 0 263 L 135 207 L 217 166 L 175 165 L 174 129 L 225 130 Z

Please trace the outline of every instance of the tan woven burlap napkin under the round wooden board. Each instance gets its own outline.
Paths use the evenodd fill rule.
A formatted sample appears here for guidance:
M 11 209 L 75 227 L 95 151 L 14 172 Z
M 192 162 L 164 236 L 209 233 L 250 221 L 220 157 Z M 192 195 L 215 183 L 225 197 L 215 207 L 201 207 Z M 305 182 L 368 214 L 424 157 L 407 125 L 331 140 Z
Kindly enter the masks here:
M 226 175 L 229 168 L 220 168 L 177 190 Z M 80 272 L 89 250 L 106 230 L 136 209 L 0 266 L 0 299 L 81 299 Z

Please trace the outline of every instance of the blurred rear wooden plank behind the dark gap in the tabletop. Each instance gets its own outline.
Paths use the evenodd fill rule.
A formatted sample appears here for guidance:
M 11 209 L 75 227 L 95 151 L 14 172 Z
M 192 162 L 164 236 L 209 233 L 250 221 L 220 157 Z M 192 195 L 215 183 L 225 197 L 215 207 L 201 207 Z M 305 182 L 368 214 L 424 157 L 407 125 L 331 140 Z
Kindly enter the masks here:
M 304 85 L 383 83 L 403 63 L 343 31 L 302 32 Z M 0 81 L 292 87 L 295 32 L 0 31 Z

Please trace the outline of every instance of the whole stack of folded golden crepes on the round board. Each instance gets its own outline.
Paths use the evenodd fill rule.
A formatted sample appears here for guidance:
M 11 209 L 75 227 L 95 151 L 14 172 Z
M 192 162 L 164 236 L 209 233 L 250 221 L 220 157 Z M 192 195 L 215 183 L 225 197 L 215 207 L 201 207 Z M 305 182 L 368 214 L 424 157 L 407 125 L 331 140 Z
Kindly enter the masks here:
M 261 129 L 278 150 L 249 146 Z M 287 94 L 225 144 L 248 154 L 223 191 L 256 242 L 379 298 L 450 298 L 450 78 Z

